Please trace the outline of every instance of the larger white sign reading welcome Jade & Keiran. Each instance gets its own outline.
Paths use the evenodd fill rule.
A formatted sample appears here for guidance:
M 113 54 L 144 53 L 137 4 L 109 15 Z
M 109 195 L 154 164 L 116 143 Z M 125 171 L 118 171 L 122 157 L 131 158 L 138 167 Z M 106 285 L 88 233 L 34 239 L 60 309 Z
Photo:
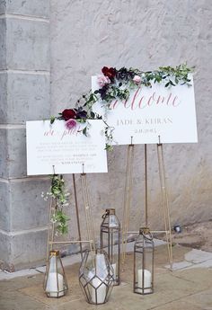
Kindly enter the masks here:
M 114 144 L 128 145 L 198 142 L 193 78 L 190 84 L 152 88 L 141 86 L 130 94 L 128 101 L 96 102 L 93 111 L 104 115 L 114 128 Z M 92 78 L 93 92 L 99 89 L 97 77 Z

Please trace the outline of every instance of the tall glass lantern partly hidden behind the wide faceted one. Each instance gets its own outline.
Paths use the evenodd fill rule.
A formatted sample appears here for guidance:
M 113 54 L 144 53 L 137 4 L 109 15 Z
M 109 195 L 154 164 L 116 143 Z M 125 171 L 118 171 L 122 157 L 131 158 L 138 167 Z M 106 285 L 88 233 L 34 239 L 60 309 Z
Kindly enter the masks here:
M 120 261 L 120 223 L 114 208 L 107 208 L 102 216 L 100 243 L 101 249 L 108 253 L 110 264 L 113 268 L 114 285 L 119 285 Z

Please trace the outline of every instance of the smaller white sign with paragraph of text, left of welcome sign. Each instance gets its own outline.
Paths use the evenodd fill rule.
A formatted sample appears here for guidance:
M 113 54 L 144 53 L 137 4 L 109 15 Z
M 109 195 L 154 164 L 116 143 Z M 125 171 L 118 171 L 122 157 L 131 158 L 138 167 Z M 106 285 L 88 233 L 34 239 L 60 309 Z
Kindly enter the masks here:
M 84 124 L 67 129 L 64 120 L 26 122 L 27 173 L 107 173 L 104 124 L 89 120 L 88 137 Z

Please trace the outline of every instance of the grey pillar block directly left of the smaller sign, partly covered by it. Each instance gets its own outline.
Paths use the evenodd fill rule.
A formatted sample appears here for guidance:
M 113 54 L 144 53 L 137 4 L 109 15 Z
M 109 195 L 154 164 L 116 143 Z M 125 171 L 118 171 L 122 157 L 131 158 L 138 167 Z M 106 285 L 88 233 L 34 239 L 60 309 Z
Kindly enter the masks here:
M 25 128 L 0 129 L 0 175 L 3 178 L 26 176 Z

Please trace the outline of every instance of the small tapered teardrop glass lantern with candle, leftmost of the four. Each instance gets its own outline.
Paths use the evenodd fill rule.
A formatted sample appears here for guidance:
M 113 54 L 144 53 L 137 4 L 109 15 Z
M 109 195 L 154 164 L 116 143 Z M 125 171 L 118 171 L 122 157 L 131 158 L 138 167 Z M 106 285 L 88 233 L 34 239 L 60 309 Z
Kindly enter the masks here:
M 44 290 L 48 297 L 62 297 L 67 292 L 66 274 L 59 251 L 49 252 L 49 261 L 44 279 Z

